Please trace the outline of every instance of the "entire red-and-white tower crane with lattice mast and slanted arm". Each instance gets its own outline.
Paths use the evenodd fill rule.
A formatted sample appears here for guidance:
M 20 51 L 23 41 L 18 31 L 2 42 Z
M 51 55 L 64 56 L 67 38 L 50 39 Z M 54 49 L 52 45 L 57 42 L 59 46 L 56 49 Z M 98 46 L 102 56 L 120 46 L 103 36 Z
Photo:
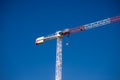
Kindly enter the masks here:
M 120 16 L 115 16 L 115 17 L 99 20 L 93 23 L 85 24 L 82 26 L 78 26 L 75 28 L 70 28 L 70 29 L 67 28 L 61 31 L 57 31 L 54 34 L 48 35 L 46 37 L 44 36 L 38 37 L 35 41 L 36 45 L 42 44 L 48 40 L 57 39 L 55 80 L 62 80 L 62 37 L 63 36 L 69 36 L 72 33 L 85 31 L 88 29 L 104 26 L 104 25 L 107 25 L 113 22 L 118 22 L 118 21 L 120 21 Z

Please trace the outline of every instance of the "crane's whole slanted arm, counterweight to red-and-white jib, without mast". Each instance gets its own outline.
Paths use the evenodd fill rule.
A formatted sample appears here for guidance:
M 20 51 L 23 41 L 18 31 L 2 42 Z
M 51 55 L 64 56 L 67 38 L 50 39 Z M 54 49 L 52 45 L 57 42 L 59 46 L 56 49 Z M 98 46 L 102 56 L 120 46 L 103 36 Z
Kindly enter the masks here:
M 70 28 L 70 29 L 67 28 L 63 31 L 57 31 L 55 34 L 48 35 L 47 37 L 44 37 L 44 36 L 38 37 L 36 39 L 35 43 L 38 45 L 38 44 L 44 43 L 44 41 L 46 41 L 46 40 L 62 38 L 63 36 L 69 36 L 71 33 L 76 33 L 76 32 L 80 32 L 80 31 L 100 27 L 100 26 L 103 26 L 103 25 L 106 25 L 106 24 L 117 22 L 117 21 L 120 21 L 120 16 L 115 16 L 115 17 L 103 19 L 103 20 L 100 20 L 100 21 L 96 21 L 96 22 L 93 22 L 93 23 L 90 23 L 90 24 L 78 26 L 78 27 L 75 27 L 75 28 Z

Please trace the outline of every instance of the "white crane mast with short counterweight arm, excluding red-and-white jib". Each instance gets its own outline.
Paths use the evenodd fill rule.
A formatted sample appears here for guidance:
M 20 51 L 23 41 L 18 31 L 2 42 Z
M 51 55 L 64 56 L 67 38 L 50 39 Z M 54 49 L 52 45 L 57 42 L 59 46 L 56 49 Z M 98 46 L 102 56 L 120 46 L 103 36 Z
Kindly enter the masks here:
M 36 39 L 37 45 L 44 43 L 45 40 L 57 39 L 55 80 L 62 80 L 62 35 L 60 33 L 61 31 L 58 31 L 53 35 L 42 36 Z

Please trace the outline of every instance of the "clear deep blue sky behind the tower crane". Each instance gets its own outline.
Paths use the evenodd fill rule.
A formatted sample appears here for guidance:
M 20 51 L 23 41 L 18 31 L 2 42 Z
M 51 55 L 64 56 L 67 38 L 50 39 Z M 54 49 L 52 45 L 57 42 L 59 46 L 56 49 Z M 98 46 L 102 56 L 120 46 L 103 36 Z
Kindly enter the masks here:
M 0 80 L 55 80 L 56 40 L 35 39 L 117 15 L 119 0 L 1 0 Z M 63 80 L 120 80 L 119 34 L 116 22 L 64 37 Z

